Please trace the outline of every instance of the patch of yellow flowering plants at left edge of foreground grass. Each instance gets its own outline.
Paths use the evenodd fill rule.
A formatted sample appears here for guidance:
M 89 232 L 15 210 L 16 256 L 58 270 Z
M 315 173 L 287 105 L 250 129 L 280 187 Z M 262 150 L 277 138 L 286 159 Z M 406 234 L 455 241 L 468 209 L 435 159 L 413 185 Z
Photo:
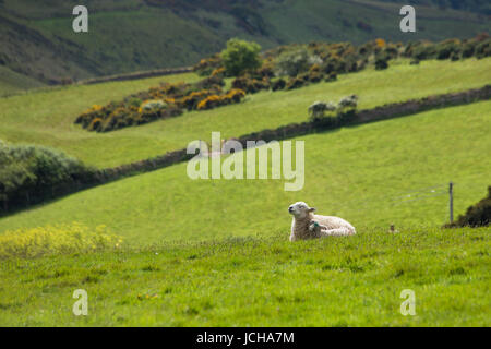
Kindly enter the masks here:
M 121 243 L 121 238 L 106 226 L 89 229 L 74 222 L 20 229 L 0 234 L 0 260 L 111 251 Z

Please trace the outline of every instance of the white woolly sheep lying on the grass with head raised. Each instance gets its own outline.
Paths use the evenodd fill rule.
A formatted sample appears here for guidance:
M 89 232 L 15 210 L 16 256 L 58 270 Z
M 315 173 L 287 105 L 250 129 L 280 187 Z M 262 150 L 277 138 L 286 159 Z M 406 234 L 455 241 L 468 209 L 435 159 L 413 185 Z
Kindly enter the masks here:
M 290 241 L 324 237 L 346 237 L 356 233 L 355 227 L 339 217 L 314 215 L 315 208 L 304 202 L 288 207 L 294 216 Z

